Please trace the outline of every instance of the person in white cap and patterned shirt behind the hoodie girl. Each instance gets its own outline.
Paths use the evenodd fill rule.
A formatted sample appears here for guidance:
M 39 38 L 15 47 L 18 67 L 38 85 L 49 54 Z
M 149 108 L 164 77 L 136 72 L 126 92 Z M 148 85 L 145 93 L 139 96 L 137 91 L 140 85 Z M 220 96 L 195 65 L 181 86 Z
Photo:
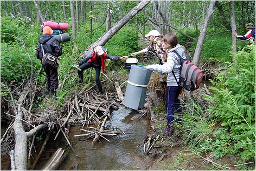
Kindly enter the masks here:
M 145 53 L 148 51 L 153 51 L 157 54 L 157 57 L 159 59 L 159 64 L 163 64 L 163 60 L 165 57 L 165 51 L 164 51 L 164 42 L 163 42 L 163 36 L 159 33 L 157 30 L 151 30 L 148 35 L 145 35 L 145 37 L 149 37 L 149 40 L 152 42 L 151 45 L 146 47 L 145 49 L 134 52 L 131 54 L 131 56 L 136 56 L 140 53 Z

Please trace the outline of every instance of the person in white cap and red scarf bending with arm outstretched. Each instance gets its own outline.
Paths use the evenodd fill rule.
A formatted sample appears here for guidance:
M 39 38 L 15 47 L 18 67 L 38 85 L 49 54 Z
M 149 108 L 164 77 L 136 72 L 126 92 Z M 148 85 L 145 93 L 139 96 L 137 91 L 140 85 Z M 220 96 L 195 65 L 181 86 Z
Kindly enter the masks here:
M 95 82 L 99 88 L 99 94 L 103 94 L 103 88 L 100 82 L 100 70 L 102 67 L 102 72 L 104 73 L 105 70 L 105 59 L 110 59 L 110 60 L 126 60 L 128 57 L 123 56 L 123 57 L 115 57 L 115 56 L 110 56 L 107 54 L 107 51 L 104 46 L 95 46 L 93 48 L 92 54 L 89 54 L 86 56 L 84 59 L 80 60 L 78 67 L 80 70 L 78 70 L 78 76 L 79 76 L 79 83 L 82 83 L 84 74 L 83 72 L 90 67 L 94 67 L 95 69 Z

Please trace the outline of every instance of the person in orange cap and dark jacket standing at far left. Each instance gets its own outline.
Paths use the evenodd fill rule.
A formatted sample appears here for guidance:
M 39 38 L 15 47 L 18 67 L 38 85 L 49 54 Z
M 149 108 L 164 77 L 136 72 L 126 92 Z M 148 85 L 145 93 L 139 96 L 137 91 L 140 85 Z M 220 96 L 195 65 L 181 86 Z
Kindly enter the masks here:
M 59 60 L 57 57 L 62 55 L 60 43 L 52 36 L 52 34 L 53 30 L 49 26 L 43 28 L 43 36 L 38 40 L 39 43 L 36 49 L 36 57 L 41 60 L 43 69 L 46 72 L 45 93 L 50 93 L 52 97 L 56 97 L 56 90 L 59 85 L 57 67 L 56 65 L 52 66 L 44 63 L 44 59 L 47 59 L 47 56 L 50 59 L 49 61 L 53 61 Z M 57 63 L 57 66 L 59 66 L 59 63 Z

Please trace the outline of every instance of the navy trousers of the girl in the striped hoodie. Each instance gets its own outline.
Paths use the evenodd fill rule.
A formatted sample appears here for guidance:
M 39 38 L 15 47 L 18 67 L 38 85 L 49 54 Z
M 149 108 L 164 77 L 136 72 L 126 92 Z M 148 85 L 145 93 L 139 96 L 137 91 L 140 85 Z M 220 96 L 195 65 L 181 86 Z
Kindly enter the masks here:
M 175 110 L 181 114 L 181 101 L 178 99 L 178 95 L 180 94 L 181 87 L 180 86 L 167 86 L 167 122 L 168 124 L 174 121 L 174 108 Z

